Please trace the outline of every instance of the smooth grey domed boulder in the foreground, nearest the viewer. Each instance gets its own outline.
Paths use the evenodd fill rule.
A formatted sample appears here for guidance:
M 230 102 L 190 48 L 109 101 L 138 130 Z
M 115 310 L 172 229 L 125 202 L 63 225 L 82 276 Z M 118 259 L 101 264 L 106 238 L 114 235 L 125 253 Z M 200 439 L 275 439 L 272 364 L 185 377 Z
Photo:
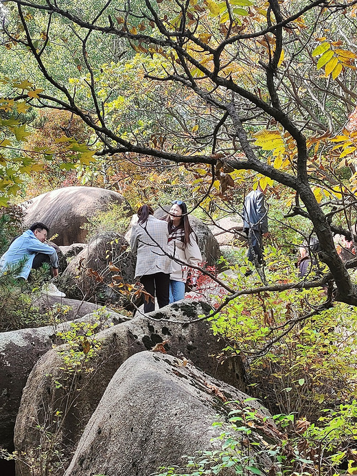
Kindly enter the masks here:
M 211 438 L 222 429 L 212 423 L 244 407 L 246 398 L 181 359 L 136 354 L 106 388 L 65 476 L 149 476 L 161 465 L 181 466 L 182 455 L 221 447 Z M 228 400 L 238 403 L 224 405 Z M 259 404 L 252 407 L 267 416 Z M 244 434 L 237 432 L 236 438 Z

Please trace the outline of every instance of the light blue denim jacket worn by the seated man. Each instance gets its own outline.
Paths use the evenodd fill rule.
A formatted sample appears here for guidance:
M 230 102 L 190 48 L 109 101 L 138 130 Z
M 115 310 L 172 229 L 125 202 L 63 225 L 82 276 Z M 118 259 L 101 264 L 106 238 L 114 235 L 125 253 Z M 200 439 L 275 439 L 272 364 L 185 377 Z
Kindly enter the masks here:
M 23 258 L 27 258 L 25 264 L 23 265 L 23 269 L 16 277 L 23 277 L 27 280 L 27 277 L 30 274 L 32 269 L 32 262 L 34 261 L 34 257 L 36 253 L 45 253 L 49 255 L 49 262 L 51 263 L 51 267 L 58 268 L 58 256 L 56 253 L 56 249 L 54 247 L 50 247 L 47 243 L 43 243 L 34 236 L 34 232 L 28 229 L 25 231 L 21 236 L 14 240 L 8 251 L 3 253 L 3 256 L 0 258 L 0 273 L 2 274 L 8 265 L 16 264 Z

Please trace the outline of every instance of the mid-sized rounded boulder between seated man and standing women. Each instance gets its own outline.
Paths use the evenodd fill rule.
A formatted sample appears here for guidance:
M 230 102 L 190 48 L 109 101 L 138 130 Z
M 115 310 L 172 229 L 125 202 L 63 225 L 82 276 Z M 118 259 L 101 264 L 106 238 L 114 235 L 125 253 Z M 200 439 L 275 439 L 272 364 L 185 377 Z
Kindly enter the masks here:
M 124 283 L 133 284 L 135 262 L 124 237 L 108 231 L 91 238 L 88 246 L 72 258 L 58 279 L 58 286 L 72 299 L 112 301 L 125 306 L 129 303 L 127 297 L 115 292 L 108 284 L 112 283 L 113 275 L 121 275 Z M 111 263 L 119 271 L 112 272 Z

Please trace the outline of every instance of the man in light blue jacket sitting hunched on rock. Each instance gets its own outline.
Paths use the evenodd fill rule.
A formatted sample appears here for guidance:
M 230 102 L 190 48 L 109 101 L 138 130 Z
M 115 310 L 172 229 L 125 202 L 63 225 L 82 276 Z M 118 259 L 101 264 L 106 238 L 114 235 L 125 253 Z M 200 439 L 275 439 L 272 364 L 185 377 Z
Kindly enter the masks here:
M 53 277 L 58 276 L 56 249 L 45 242 L 48 232 L 49 229 L 46 225 L 36 222 L 31 225 L 30 229 L 24 231 L 21 236 L 15 238 L 8 251 L 5 251 L 0 258 L 0 273 L 4 274 L 14 265 L 23 262 L 23 266 L 16 277 L 27 280 L 32 269 L 39 269 L 43 263 L 47 262 L 51 265 Z M 65 297 L 65 293 L 58 291 L 53 283 L 47 284 L 45 291 L 50 295 Z

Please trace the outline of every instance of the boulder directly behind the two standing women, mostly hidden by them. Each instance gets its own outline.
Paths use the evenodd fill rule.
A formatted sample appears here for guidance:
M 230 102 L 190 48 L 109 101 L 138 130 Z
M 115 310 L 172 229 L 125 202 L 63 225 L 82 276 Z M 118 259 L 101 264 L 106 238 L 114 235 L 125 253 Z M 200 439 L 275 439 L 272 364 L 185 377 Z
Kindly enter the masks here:
M 163 207 L 155 210 L 154 216 L 162 220 L 168 215 L 170 207 Z M 207 266 L 214 266 L 220 256 L 220 247 L 216 238 L 209 230 L 209 227 L 196 216 L 189 215 L 189 224 L 196 233 L 198 247 L 202 253 L 202 260 Z

